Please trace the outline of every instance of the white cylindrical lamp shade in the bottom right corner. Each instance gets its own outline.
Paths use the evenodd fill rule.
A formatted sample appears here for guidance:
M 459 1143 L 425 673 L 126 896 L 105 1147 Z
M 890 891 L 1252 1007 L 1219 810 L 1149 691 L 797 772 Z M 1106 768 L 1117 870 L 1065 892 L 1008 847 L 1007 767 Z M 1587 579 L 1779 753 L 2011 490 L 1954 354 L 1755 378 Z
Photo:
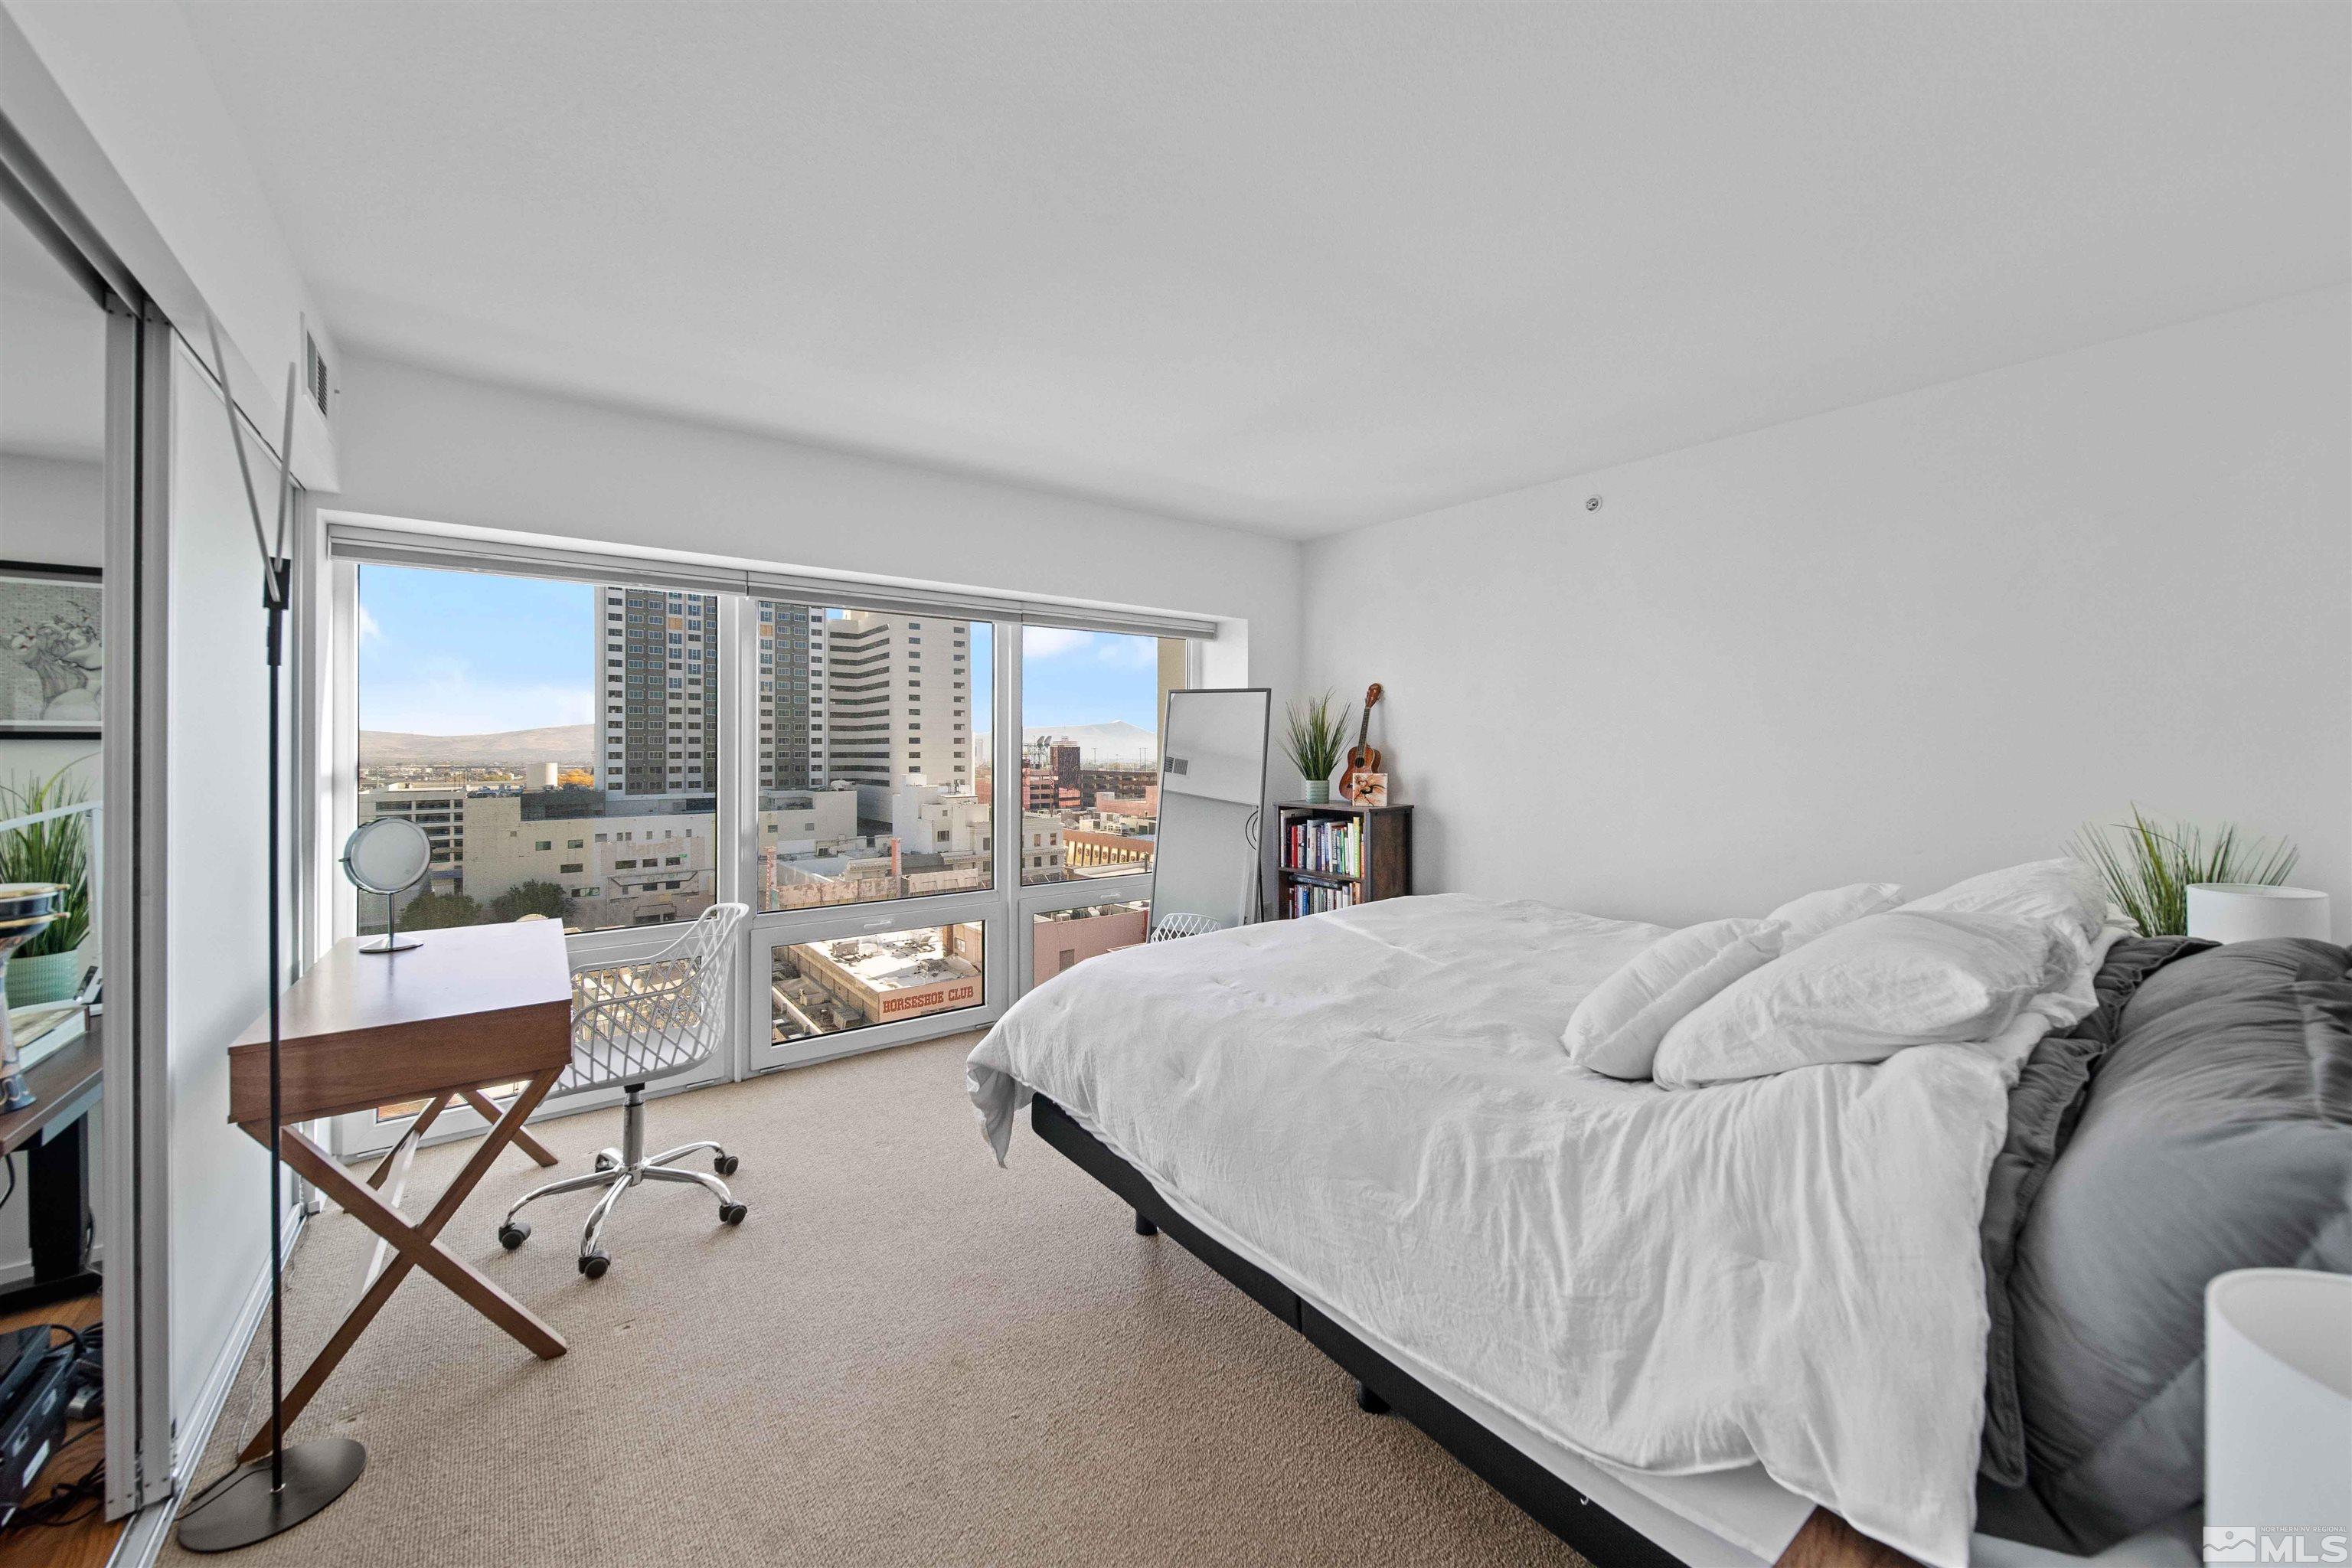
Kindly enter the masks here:
M 2352 1526 L 2352 1274 L 2206 1286 L 2206 1526 Z

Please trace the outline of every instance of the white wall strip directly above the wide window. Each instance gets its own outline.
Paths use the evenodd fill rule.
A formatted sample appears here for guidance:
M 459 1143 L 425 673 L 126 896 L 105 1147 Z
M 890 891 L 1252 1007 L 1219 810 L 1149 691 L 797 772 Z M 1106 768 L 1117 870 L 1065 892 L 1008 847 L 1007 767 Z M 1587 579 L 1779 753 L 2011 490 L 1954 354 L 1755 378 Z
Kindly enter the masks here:
M 334 510 L 1232 616 L 1254 679 L 1296 670 L 1291 541 L 386 360 L 339 416 Z

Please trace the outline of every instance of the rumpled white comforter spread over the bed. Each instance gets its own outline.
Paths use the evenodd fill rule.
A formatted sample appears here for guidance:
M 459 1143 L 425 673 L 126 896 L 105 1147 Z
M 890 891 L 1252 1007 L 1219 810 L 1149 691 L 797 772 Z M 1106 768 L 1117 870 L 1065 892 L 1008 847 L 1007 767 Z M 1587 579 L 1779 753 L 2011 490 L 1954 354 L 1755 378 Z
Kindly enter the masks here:
M 997 1159 L 1054 1098 L 1392 1359 L 1571 1450 L 1762 1462 L 1962 1568 L 1985 1178 L 2105 945 L 1990 1044 L 1696 1091 L 1573 1067 L 1562 1023 L 1663 933 L 1439 896 L 1134 947 L 1023 997 L 971 1098 Z

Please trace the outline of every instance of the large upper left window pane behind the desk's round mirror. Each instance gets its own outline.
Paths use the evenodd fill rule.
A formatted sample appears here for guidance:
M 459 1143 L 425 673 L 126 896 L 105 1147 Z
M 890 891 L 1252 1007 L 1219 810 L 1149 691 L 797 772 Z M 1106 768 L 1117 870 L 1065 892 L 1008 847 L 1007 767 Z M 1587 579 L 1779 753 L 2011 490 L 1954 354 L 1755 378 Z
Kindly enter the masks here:
M 358 818 L 433 842 L 400 924 L 708 910 L 722 663 L 717 595 L 362 564 Z

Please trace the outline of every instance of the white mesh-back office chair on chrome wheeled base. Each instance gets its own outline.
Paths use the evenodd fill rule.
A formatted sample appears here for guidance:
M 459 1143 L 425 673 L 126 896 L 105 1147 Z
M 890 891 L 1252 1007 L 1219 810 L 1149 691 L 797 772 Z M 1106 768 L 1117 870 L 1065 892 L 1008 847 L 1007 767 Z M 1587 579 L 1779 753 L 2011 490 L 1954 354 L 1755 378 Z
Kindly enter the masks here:
M 743 1222 L 750 1211 L 736 1204 L 720 1180 L 734 1175 L 734 1154 L 706 1140 L 644 1157 L 644 1086 L 703 1065 L 727 1041 L 727 1018 L 736 1001 L 736 933 L 748 917 L 750 907 L 739 903 L 710 905 L 661 954 L 572 976 L 572 1065 L 555 1079 L 548 1098 L 619 1084 L 628 1093 L 621 1105 L 621 1147 L 600 1150 L 595 1171 L 586 1175 L 567 1175 L 522 1194 L 522 1201 L 506 1211 L 499 1246 L 515 1251 L 532 1234 L 532 1227 L 515 1218 L 527 1206 L 588 1187 L 604 1187 L 581 1229 L 581 1274 L 588 1279 L 602 1279 L 612 1267 L 597 1239 L 614 1204 L 637 1182 L 708 1187 L 720 1197 L 720 1222 Z M 710 1168 L 717 1175 L 677 1168 L 680 1159 L 703 1150 L 710 1150 Z

